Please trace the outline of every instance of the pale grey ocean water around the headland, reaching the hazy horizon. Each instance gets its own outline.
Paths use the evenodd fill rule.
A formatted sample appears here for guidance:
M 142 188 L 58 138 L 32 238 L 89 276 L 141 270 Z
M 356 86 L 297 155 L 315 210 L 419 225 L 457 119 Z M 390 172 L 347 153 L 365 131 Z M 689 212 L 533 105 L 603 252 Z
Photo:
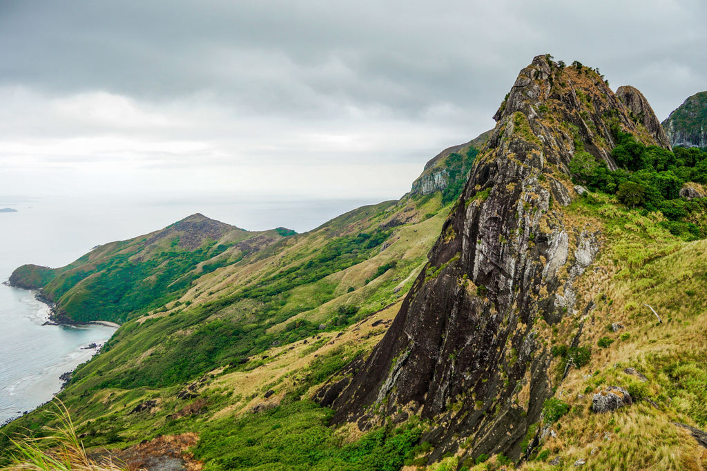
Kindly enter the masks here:
M 367 200 L 189 198 L 28 198 L 1 196 L 0 281 L 24 263 L 52 268 L 99 244 L 147 234 L 194 213 L 244 229 L 313 229 Z M 51 400 L 59 378 L 86 362 L 114 328 L 44 326 L 49 314 L 35 293 L 0 285 L 0 424 Z

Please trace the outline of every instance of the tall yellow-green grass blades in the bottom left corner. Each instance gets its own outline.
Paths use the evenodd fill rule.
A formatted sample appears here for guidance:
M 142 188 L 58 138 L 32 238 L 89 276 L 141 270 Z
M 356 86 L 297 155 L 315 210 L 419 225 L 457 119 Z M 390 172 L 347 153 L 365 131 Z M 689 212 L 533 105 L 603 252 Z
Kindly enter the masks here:
M 110 459 L 99 462 L 88 457 L 83 443 L 76 437 L 74 423 L 71 422 L 66 406 L 57 400 L 57 412 L 49 412 L 59 423 L 57 427 L 45 427 L 45 436 L 33 438 L 23 436 L 11 439 L 16 447 L 7 471 L 127 471 Z

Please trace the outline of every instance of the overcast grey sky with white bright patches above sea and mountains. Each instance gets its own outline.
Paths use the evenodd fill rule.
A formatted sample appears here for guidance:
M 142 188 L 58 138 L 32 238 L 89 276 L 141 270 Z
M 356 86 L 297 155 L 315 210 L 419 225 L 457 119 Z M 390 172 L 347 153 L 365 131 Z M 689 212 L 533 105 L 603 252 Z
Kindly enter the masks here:
M 0 1 L 0 195 L 398 198 L 537 54 L 707 90 L 703 0 Z

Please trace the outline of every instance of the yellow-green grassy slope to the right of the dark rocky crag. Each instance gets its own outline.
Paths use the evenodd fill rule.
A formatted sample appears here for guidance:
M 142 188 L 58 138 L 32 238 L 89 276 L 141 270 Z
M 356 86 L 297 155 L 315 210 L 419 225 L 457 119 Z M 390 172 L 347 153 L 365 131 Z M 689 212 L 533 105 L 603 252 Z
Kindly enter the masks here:
M 707 241 L 684 242 L 665 228 L 660 213 L 641 214 L 600 193 L 579 198 L 569 214 L 600 227 L 604 246 L 582 280 L 583 305 L 590 309 L 546 327 L 557 352 L 560 417 L 552 423 L 546 415 L 555 436 L 522 469 L 558 469 L 549 464 L 555 458 L 561 469 L 580 459 L 590 470 L 704 469 L 707 451 L 671 422 L 707 428 Z M 559 381 L 563 352 L 580 324 L 588 362 Z M 592 395 L 612 385 L 629 390 L 634 404 L 591 412 Z

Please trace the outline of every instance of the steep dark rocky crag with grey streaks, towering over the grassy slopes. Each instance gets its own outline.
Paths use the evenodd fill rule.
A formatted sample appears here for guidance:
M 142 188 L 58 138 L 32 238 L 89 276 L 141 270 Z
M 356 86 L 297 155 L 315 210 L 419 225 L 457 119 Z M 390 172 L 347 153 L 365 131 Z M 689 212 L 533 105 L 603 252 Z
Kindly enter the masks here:
M 520 456 L 551 396 L 543 326 L 578 316 L 577 281 L 601 246 L 597 228 L 563 213 L 569 162 L 585 151 L 616 167 L 612 125 L 655 143 L 598 73 L 547 56 L 520 71 L 495 119 L 385 338 L 321 395 L 337 423 L 433 419 L 431 461 L 465 437 L 465 456 Z

